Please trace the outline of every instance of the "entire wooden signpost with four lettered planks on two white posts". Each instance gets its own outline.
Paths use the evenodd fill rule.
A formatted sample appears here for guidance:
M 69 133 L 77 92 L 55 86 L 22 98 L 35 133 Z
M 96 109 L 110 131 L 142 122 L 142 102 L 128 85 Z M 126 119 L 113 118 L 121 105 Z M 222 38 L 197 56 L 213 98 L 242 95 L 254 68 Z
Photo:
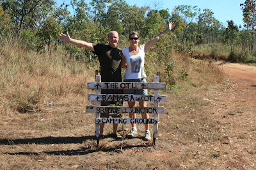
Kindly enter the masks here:
M 88 100 L 96 102 L 95 106 L 87 106 L 86 112 L 95 112 L 95 135 L 97 137 L 97 144 L 99 144 L 100 139 L 100 123 L 154 124 L 153 144 L 156 143 L 159 113 L 164 113 L 164 107 L 159 107 L 159 102 L 166 102 L 166 96 L 159 95 L 159 89 L 166 89 L 166 83 L 160 83 L 159 76 L 154 77 L 154 82 L 101 82 L 100 75 L 96 74 L 96 82 L 88 82 L 87 88 L 95 89 L 96 92 L 96 94 L 88 94 Z M 100 89 L 154 89 L 154 95 L 100 94 Z M 100 101 L 145 101 L 154 102 L 154 107 L 100 106 Z M 150 113 L 154 114 L 154 118 L 100 118 L 101 113 Z

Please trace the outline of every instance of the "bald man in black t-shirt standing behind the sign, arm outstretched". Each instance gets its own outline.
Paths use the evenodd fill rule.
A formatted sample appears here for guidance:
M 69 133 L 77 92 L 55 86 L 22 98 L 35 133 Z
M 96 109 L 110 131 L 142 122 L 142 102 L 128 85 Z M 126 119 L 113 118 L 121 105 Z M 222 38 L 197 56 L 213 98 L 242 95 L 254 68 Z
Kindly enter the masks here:
M 70 36 L 60 33 L 60 39 L 64 42 L 72 43 L 79 47 L 85 47 L 86 49 L 92 50 L 96 54 L 100 61 L 100 75 L 102 82 L 122 82 L 121 66 L 122 66 L 122 50 L 116 48 L 119 40 L 119 35 L 116 31 L 110 31 L 108 34 L 108 45 L 95 44 L 84 42 L 83 40 L 75 40 Z M 102 89 L 102 94 L 118 94 L 122 93 L 122 89 Z M 109 104 L 116 104 L 116 102 L 100 102 L 100 105 L 106 106 Z M 100 118 L 108 118 L 109 114 L 100 114 Z M 114 117 L 114 116 L 113 116 Z M 120 139 L 122 136 L 116 132 L 118 124 L 113 124 L 112 135 L 116 139 Z M 100 138 L 103 135 L 104 124 L 100 123 Z

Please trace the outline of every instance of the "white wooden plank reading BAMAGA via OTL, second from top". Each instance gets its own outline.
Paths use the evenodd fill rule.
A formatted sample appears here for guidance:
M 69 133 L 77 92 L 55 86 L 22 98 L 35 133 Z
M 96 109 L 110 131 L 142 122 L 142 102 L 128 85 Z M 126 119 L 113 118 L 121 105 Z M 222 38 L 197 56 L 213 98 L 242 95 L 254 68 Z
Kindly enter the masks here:
M 116 102 L 165 102 L 166 95 L 124 95 L 124 94 L 88 94 L 88 101 L 116 101 Z

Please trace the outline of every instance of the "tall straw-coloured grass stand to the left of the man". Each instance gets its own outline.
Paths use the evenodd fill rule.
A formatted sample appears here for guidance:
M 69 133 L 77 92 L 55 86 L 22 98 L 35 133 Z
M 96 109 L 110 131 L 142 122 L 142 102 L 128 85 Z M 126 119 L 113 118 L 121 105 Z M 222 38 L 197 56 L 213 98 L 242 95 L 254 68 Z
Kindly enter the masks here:
M 54 98 L 84 95 L 92 74 L 64 52 L 38 54 L 13 40 L 0 47 L 0 69 L 1 112 L 37 112 Z

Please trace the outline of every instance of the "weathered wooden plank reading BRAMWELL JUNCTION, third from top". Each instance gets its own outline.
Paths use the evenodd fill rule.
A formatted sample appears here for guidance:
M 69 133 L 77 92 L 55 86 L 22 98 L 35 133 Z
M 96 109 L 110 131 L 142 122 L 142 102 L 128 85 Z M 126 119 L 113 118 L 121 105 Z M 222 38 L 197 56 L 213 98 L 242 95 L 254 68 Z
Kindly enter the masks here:
M 164 113 L 164 107 L 120 107 L 120 106 L 86 106 L 86 112 L 97 113 Z

